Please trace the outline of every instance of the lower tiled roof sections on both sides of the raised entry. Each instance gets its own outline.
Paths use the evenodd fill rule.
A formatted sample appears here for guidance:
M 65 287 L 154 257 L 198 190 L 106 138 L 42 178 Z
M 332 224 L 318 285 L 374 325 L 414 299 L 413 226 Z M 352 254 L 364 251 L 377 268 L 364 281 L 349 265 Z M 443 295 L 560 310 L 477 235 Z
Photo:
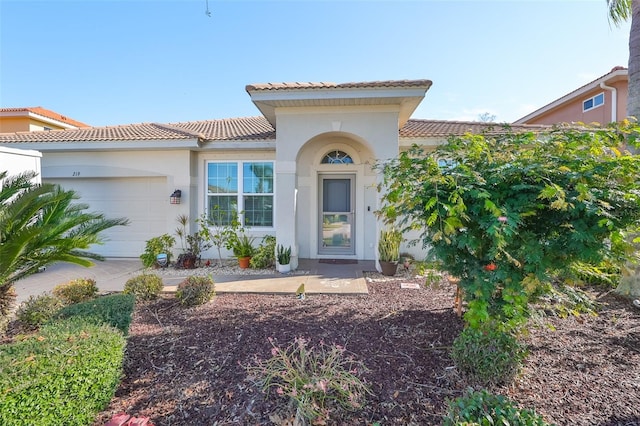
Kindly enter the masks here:
M 400 138 L 430 138 L 462 135 L 467 132 L 490 134 L 504 131 L 504 124 L 409 120 L 400 129 Z M 511 125 L 514 131 L 536 131 L 550 126 Z M 188 121 L 183 123 L 141 123 L 123 126 L 90 127 L 86 129 L 52 130 L 47 132 L 18 132 L 0 134 L 0 144 L 20 142 L 94 142 L 138 140 L 204 141 L 275 141 L 276 131 L 262 116 L 226 118 L 222 120 Z

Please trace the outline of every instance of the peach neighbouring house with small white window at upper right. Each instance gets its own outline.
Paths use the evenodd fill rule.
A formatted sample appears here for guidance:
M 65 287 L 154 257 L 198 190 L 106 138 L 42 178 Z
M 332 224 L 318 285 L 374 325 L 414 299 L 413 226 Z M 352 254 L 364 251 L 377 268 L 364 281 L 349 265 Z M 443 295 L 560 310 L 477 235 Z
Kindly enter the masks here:
M 628 70 L 609 73 L 528 114 L 514 124 L 600 123 L 627 117 Z

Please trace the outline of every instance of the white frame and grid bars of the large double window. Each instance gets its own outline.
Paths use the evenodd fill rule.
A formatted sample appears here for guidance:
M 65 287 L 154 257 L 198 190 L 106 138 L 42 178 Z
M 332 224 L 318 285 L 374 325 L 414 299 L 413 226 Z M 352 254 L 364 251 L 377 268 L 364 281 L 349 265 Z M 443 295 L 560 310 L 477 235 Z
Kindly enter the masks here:
M 270 163 L 272 166 L 272 170 L 274 172 L 273 174 L 273 190 L 272 192 L 266 192 L 266 193 L 254 193 L 254 192 L 244 192 L 244 165 L 245 164 L 251 164 L 251 163 Z M 235 164 L 237 166 L 237 170 L 238 170 L 238 175 L 237 175 L 237 181 L 238 181 L 238 190 L 236 193 L 217 193 L 217 192 L 209 192 L 209 164 Z M 242 223 L 243 227 L 246 227 L 248 229 L 251 230 L 265 230 L 265 231 L 272 231 L 275 229 L 275 221 L 276 221 L 276 206 L 275 206 L 275 201 L 276 201 L 276 179 L 275 179 L 275 161 L 273 160 L 238 160 L 238 161 L 227 161 L 227 160 L 222 160 L 222 161 L 216 161 L 216 160 L 208 160 L 205 164 L 205 188 L 206 188 L 206 193 L 205 193 L 205 211 L 206 211 L 206 215 L 209 215 L 209 197 L 210 196 L 236 196 L 237 197 L 237 205 L 238 205 L 238 219 L 240 220 L 240 223 Z M 247 226 L 245 224 L 245 214 L 244 214 L 244 197 L 245 196 L 263 196 L 263 197 L 271 197 L 271 201 L 272 201 L 272 209 L 271 209 L 271 213 L 272 213 L 272 218 L 271 218 L 271 226 L 254 226 L 254 225 L 249 225 Z

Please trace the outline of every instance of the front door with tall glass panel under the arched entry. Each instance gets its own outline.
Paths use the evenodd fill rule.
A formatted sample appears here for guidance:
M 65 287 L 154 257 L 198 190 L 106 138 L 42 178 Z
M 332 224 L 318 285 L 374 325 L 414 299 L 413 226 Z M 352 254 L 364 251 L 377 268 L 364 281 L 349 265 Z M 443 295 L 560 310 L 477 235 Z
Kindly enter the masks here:
M 319 175 L 319 254 L 356 253 L 353 190 L 355 180 L 355 175 Z

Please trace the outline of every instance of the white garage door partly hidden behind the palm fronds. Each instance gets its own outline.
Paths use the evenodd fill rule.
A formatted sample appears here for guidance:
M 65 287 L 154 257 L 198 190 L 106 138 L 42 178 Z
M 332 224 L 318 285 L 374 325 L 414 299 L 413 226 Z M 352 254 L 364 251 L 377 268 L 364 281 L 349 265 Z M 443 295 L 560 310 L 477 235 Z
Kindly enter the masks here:
M 169 203 L 166 178 L 96 178 L 46 179 L 80 195 L 89 211 L 104 213 L 107 218 L 126 217 L 128 226 L 105 231 L 103 245 L 91 251 L 107 257 L 138 257 L 145 241 L 166 232 L 166 209 Z

